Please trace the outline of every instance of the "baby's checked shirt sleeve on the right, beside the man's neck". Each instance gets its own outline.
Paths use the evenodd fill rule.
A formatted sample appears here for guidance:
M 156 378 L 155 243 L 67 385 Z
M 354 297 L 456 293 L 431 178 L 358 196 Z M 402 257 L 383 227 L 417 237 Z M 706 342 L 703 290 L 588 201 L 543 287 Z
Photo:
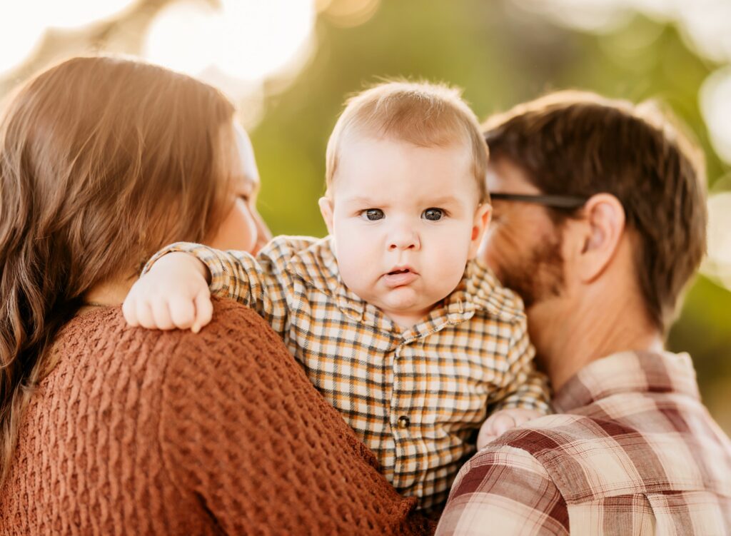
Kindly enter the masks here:
M 525 317 L 512 324 L 507 350 L 507 378 L 504 387 L 491 396 L 491 412 L 500 409 L 537 409 L 544 415 L 552 412 L 548 378 L 534 367 L 535 349 L 528 339 Z

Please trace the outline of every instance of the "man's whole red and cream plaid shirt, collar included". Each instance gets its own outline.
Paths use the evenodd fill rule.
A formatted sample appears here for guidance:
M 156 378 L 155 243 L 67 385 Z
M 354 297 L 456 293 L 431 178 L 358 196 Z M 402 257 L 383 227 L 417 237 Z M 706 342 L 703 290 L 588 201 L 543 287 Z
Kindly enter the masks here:
M 728 535 L 731 441 L 687 354 L 594 361 L 456 478 L 437 535 Z

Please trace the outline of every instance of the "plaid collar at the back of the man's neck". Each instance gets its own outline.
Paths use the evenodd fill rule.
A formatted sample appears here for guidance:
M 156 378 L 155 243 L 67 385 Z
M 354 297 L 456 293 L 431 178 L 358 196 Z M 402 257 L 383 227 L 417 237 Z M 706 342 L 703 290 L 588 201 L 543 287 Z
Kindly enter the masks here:
M 553 407 L 569 412 L 618 393 L 678 393 L 700 399 L 687 353 L 633 351 L 589 363 L 558 390 Z

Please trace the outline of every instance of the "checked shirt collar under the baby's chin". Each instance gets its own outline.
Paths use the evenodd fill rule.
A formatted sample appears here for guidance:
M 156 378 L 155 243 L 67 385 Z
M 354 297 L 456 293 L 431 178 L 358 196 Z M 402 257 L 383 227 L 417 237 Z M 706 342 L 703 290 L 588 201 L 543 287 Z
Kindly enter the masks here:
M 384 314 L 377 314 L 376 307 L 363 301 L 343 283 L 332 237 L 326 236 L 293 255 L 285 269 L 330 295 L 349 317 L 363 322 L 372 320 L 368 323 L 374 323 L 385 331 L 395 329 L 390 320 L 383 320 Z M 470 261 L 457 288 L 409 332 L 423 336 L 442 328 L 445 323 L 466 320 L 480 310 L 508 322 L 515 320 L 517 314 L 523 314 L 522 303 L 515 299 L 515 295 L 501 287 L 485 265 Z M 379 320 L 379 317 L 383 318 Z

